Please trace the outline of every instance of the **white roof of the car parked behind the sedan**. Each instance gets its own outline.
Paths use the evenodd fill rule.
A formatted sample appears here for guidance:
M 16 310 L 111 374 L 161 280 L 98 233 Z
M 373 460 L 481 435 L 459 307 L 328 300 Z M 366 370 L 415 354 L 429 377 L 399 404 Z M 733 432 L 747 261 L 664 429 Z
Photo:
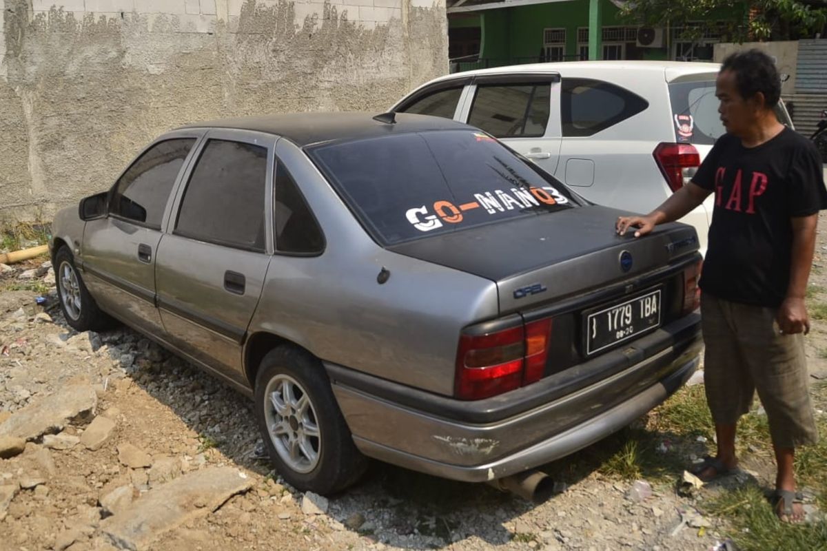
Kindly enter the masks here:
M 549 73 L 586 74 L 611 71 L 660 72 L 665 78 L 672 80 L 685 74 L 717 73 L 720 64 L 700 63 L 696 61 L 561 61 L 557 63 L 533 63 L 523 65 L 508 65 L 505 67 L 491 67 L 489 69 L 475 69 L 461 73 L 449 74 L 437 80 L 460 78 L 477 74 L 519 74 L 519 73 Z

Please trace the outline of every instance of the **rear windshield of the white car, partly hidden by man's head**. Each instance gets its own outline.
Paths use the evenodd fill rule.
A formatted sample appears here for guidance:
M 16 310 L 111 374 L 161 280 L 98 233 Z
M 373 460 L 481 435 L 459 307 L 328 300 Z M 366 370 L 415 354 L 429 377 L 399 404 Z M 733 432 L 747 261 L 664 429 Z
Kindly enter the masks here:
M 713 145 L 726 133 L 719 118 L 715 79 L 669 84 L 669 97 L 677 141 Z M 781 103 L 776 107 L 776 116 L 783 125 L 791 126 Z

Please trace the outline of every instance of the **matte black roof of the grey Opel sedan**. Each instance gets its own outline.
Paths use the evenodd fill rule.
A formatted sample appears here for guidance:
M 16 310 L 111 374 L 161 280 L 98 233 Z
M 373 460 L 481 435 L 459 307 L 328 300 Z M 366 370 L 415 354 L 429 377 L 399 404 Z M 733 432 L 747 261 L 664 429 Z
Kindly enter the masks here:
M 461 122 L 439 116 L 396 113 L 395 123 L 376 121 L 376 113 L 291 113 L 246 116 L 198 122 L 182 128 L 227 128 L 280 135 L 299 147 L 329 141 L 361 140 L 390 134 L 441 130 L 472 130 Z

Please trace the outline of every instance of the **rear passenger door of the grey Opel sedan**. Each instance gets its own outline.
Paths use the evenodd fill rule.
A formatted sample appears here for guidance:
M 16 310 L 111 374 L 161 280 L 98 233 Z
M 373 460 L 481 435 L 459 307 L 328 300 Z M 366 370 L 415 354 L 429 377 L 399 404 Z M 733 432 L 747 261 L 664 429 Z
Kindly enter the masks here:
M 241 344 L 273 252 L 275 136 L 211 130 L 157 254 L 160 317 L 184 354 L 246 385 Z

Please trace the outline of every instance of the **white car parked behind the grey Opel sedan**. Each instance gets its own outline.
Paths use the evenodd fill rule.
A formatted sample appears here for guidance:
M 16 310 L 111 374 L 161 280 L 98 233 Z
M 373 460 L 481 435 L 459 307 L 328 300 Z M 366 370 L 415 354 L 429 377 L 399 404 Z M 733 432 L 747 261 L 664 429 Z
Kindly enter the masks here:
M 688 182 L 724 134 L 719 64 L 581 61 L 514 65 L 437 78 L 394 112 L 452 118 L 502 140 L 586 199 L 648 212 Z M 792 126 L 783 103 L 777 115 Z M 682 221 L 702 253 L 710 197 Z

